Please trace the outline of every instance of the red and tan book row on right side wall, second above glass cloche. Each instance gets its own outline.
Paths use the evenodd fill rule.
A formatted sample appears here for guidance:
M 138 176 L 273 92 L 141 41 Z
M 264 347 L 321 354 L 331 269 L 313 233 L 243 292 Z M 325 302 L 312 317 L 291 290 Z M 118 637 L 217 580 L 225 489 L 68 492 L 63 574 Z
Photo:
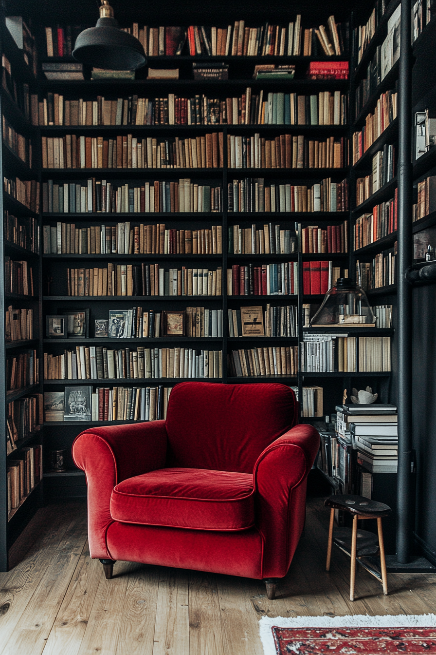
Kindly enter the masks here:
M 397 229 L 397 189 L 395 196 L 363 214 L 354 225 L 354 250 L 375 243 Z

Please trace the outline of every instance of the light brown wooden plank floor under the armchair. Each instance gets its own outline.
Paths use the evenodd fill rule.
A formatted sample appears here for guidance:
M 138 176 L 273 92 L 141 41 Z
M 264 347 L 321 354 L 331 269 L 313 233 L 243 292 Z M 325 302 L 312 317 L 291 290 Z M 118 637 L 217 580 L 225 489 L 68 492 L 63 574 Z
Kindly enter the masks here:
M 278 598 L 256 580 L 116 563 L 113 580 L 89 557 L 86 507 L 39 510 L 0 574 L 0 655 L 262 655 L 261 616 L 424 614 L 436 576 L 391 574 L 389 595 L 363 571 L 348 599 L 349 559 L 325 571 L 328 512 L 308 499 L 307 525 Z M 25 553 L 31 534 L 37 540 Z

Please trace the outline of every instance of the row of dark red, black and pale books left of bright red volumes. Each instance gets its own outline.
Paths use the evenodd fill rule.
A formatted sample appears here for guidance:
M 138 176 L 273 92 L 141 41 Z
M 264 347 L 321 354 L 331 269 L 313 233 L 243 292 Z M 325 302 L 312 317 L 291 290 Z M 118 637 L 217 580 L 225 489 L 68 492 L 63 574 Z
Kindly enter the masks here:
M 295 295 L 297 290 L 296 261 L 261 266 L 235 264 L 227 269 L 227 295 Z

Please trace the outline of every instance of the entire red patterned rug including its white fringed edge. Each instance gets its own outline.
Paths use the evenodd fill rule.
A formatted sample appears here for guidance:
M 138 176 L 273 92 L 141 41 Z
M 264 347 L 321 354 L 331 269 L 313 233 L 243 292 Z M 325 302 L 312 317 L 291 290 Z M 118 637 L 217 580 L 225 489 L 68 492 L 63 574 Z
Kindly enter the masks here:
M 265 655 L 436 655 L 436 616 L 264 616 L 260 637 Z

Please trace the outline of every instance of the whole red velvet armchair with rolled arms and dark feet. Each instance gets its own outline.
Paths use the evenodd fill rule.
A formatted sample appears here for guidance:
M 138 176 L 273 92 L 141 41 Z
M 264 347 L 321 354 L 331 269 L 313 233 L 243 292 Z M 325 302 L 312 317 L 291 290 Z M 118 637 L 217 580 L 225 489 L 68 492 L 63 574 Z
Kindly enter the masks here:
M 177 384 L 166 421 L 90 428 L 73 444 L 88 538 L 117 559 L 264 579 L 273 598 L 305 522 L 319 447 L 283 384 Z

